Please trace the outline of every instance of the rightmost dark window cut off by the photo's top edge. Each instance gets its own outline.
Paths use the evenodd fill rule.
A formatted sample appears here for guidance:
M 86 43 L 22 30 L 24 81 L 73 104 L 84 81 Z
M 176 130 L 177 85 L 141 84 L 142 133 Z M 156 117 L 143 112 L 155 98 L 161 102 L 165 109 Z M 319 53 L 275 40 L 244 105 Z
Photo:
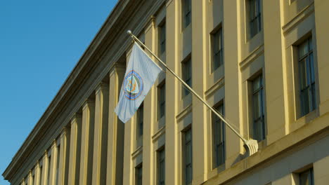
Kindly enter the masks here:
M 261 2 L 260 0 L 247 0 L 248 21 L 250 38 L 258 34 L 262 29 Z

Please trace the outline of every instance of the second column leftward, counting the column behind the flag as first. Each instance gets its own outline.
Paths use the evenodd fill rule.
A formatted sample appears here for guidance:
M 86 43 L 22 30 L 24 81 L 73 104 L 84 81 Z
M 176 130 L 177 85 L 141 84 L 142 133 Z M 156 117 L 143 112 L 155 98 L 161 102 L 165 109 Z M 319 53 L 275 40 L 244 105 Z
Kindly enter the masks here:
M 108 147 L 108 84 L 96 88 L 95 128 L 93 135 L 92 184 L 106 184 L 106 160 Z

